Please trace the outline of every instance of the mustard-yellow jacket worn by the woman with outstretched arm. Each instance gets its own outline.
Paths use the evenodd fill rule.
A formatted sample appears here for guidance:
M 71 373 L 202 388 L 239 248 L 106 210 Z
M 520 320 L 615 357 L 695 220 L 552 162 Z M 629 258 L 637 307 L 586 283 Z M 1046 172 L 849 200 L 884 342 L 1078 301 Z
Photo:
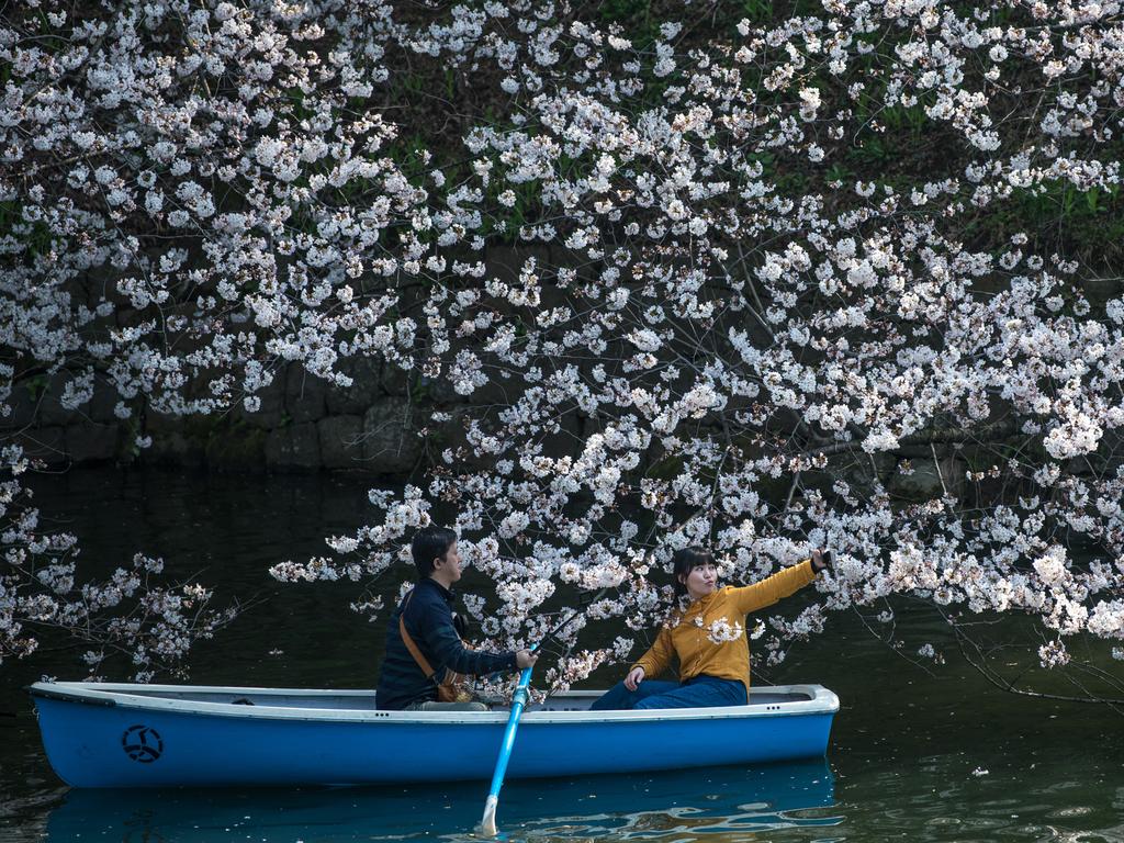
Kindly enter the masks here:
M 745 682 L 749 698 L 750 644 L 745 616 L 772 606 L 814 579 L 816 573 L 812 570 L 812 560 L 805 560 L 752 586 L 726 586 L 718 589 L 701 600 L 696 600 L 683 611 L 676 613 L 664 624 L 652 647 L 633 667 L 643 668 L 644 676 L 654 679 L 671 667 L 671 656 L 677 655 L 679 681 L 703 674 L 733 679 Z M 714 625 L 723 620 L 731 627 L 741 624 L 742 634 L 734 641 L 716 642 Z

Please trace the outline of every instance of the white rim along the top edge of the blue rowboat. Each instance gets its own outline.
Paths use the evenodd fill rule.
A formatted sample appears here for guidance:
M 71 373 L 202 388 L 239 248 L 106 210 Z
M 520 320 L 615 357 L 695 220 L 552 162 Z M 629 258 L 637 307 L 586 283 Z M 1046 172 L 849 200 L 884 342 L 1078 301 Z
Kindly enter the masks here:
M 143 689 L 143 692 L 135 692 Z M 768 689 L 768 691 L 765 690 Z M 205 717 L 237 717 L 256 720 L 303 720 L 319 723 L 398 723 L 439 726 L 456 724 L 504 724 L 509 711 L 384 711 L 357 708 L 323 708 L 302 706 L 243 705 L 236 703 L 218 703 L 211 700 L 182 699 L 161 697 L 161 694 L 210 694 L 233 695 L 238 697 L 307 697 L 323 699 L 325 697 L 373 699 L 374 691 L 369 689 L 319 689 L 319 688 L 250 688 L 234 686 L 183 686 L 183 685 L 146 685 L 119 682 L 35 682 L 28 686 L 33 697 L 43 697 L 60 701 L 82 705 L 118 707 L 134 710 L 161 711 L 166 714 L 183 714 Z M 699 719 L 746 719 L 758 717 L 795 717 L 808 715 L 834 715 L 839 711 L 839 697 L 833 691 L 818 685 L 781 685 L 760 686 L 756 690 L 768 694 L 801 694 L 804 700 L 782 700 L 749 703 L 742 706 L 723 706 L 713 708 L 662 708 L 638 711 L 590 711 L 528 709 L 522 722 L 526 725 L 589 725 L 592 723 L 613 722 L 652 722 L 652 720 L 699 720 Z M 133 691 L 133 692 L 130 692 Z M 551 696 L 554 700 L 588 699 L 601 691 L 562 691 Z M 752 692 L 751 692 L 752 699 Z

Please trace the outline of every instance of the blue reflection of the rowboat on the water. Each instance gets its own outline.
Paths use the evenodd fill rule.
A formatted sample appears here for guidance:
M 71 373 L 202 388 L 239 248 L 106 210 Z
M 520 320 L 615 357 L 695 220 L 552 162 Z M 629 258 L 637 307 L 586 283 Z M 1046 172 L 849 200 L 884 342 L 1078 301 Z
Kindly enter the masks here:
M 659 747 L 644 751 L 658 752 Z M 46 840 L 470 840 L 484 795 L 480 782 L 238 791 L 72 790 L 52 813 Z M 513 781 L 504 789 L 499 826 L 507 840 L 741 840 L 770 830 L 836 825 L 841 818 L 824 810 L 833 798 L 834 779 L 823 759 Z

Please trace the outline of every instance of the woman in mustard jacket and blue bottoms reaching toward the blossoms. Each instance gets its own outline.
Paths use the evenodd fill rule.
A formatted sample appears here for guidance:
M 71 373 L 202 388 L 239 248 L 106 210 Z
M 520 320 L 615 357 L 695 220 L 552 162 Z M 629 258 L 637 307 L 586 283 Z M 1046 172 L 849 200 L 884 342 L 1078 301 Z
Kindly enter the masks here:
M 672 558 L 680 608 L 623 682 L 593 703 L 593 710 L 705 708 L 749 701 L 750 646 L 745 616 L 804 588 L 830 566 L 831 554 L 809 559 L 744 588 L 717 587 L 714 556 L 685 547 Z M 679 681 L 649 679 L 679 659 Z

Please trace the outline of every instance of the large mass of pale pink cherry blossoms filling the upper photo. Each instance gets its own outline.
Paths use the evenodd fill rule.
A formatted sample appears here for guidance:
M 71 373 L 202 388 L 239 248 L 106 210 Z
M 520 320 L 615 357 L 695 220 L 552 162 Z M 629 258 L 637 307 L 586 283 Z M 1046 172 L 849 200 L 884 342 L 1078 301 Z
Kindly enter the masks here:
M 564 687 L 635 655 L 676 549 L 738 582 L 826 545 L 798 617 L 716 640 L 776 663 L 845 610 L 939 660 L 898 641 L 919 602 L 1027 690 L 979 632 L 1019 615 L 1071 696 L 1124 698 L 1120 3 L 7 15 L 3 407 L 108 384 L 143 453 L 147 414 L 253 411 L 287 363 L 463 399 L 424 479 L 274 575 L 379 578 L 441 506 L 490 643 L 611 589 Z

